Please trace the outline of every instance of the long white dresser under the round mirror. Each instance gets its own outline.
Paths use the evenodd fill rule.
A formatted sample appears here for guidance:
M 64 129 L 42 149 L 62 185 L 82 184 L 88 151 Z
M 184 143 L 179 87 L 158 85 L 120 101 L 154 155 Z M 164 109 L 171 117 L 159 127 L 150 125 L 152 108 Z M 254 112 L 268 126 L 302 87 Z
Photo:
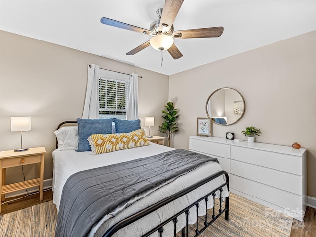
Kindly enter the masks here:
M 307 202 L 306 149 L 191 136 L 189 149 L 217 158 L 230 191 L 302 221 Z

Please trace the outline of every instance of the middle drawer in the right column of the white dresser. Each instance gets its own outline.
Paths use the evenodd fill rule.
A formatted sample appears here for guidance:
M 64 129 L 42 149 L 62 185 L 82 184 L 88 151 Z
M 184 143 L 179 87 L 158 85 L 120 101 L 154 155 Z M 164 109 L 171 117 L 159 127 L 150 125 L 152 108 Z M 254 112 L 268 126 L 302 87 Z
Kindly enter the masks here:
M 299 175 L 231 160 L 231 174 L 303 195 L 303 178 Z

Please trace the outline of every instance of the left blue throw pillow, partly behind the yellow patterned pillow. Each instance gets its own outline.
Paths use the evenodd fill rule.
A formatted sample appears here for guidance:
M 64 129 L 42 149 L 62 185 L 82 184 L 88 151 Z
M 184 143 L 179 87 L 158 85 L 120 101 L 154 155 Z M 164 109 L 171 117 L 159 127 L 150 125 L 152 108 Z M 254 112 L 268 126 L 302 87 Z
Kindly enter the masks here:
M 92 134 L 111 134 L 112 118 L 108 119 L 77 119 L 78 124 L 78 150 L 76 152 L 91 151 L 89 141 Z

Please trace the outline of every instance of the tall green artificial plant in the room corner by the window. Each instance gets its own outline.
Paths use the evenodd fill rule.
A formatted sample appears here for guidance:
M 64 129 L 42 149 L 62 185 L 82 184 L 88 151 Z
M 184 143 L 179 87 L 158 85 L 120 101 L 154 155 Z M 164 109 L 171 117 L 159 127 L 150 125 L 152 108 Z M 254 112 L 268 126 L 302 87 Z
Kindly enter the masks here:
M 168 146 L 170 147 L 171 135 L 172 133 L 178 131 L 177 118 L 179 115 L 177 115 L 177 109 L 174 108 L 172 102 L 168 102 L 164 107 L 166 107 L 166 111 L 162 111 L 162 118 L 164 119 L 164 122 L 161 126 L 159 126 L 159 131 L 167 134 Z

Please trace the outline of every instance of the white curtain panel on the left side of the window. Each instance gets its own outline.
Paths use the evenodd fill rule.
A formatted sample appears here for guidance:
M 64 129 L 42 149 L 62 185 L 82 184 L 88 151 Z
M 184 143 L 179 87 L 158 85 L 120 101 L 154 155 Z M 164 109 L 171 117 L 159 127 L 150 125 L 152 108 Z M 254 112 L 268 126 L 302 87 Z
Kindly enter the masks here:
M 88 65 L 88 83 L 82 118 L 99 118 L 99 65 Z

